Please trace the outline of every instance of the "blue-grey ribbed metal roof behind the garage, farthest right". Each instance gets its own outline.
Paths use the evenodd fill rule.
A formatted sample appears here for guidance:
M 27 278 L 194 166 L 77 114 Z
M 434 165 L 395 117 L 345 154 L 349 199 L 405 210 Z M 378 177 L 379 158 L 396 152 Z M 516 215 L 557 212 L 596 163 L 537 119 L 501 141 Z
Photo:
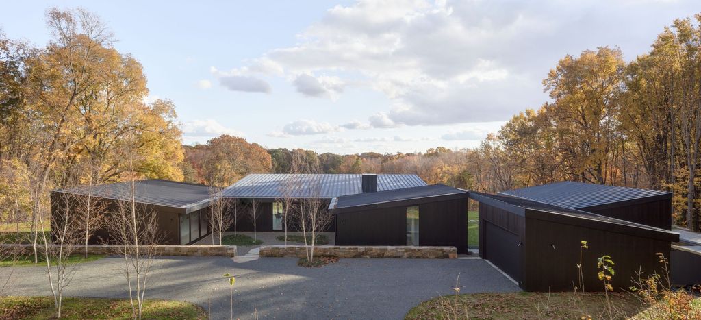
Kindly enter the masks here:
M 671 197 L 670 192 L 611 185 L 594 185 L 583 182 L 554 182 L 536 187 L 526 187 L 499 192 L 507 196 L 554 204 L 564 208 L 582 209 L 623 201 L 644 200 L 653 197 Z

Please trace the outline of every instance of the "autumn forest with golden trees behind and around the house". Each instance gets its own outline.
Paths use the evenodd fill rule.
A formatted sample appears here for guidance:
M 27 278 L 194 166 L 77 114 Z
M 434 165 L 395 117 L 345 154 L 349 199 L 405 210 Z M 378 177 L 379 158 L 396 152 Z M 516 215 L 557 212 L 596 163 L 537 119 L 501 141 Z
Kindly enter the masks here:
M 80 9 L 47 14 L 35 47 L 0 32 L 0 210 L 48 213 L 50 189 L 139 178 L 229 185 L 248 173 L 416 173 L 498 192 L 573 180 L 674 192 L 674 218 L 699 229 L 701 15 L 675 20 L 631 62 L 615 47 L 566 55 L 525 109 L 479 147 L 416 154 L 317 154 L 222 135 L 183 146 L 175 105 L 146 103 L 138 60 Z M 545 72 L 545 70 L 543 70 Z M 136 158 L 125 164 L 125 154 Z M 133 157 L 133 156 L 132 156 Z M 294 165 L 292 165 L 294 164 Z M 34 218 L 36 220 L 36 218 Z

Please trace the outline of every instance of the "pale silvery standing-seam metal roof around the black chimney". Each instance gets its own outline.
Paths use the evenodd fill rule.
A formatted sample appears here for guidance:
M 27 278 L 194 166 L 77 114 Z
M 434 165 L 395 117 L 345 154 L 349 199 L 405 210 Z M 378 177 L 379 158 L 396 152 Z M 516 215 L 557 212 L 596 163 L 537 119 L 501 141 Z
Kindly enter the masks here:
M 377 191 L 421 187 L 418 175 L 377 175 Z M 254 173 L 222 192 L 230 198 L 334 198 L 362 193 L 360 174 Z

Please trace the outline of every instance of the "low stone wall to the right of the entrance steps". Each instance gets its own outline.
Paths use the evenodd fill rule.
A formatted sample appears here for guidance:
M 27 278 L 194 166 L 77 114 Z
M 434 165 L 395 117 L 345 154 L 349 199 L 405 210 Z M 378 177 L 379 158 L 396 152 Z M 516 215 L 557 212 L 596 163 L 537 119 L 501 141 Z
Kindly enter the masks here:
M 261 246 L 261 257 L 306 257 L 304 246 Z M 334 258 L 458 258 L 452 246 L 315 246 L 315 257 Z

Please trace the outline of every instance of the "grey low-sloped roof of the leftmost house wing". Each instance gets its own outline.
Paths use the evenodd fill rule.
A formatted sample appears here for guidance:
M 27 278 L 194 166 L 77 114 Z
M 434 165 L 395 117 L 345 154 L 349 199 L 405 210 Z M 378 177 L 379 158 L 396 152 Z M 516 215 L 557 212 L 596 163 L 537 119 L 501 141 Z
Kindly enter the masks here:
M 55 192 L 88 195 L 88 187 L 56 189 Z M 104 199 L 129 201 L 131 196 L 130 182 L 94 185 L 90 196 Z M 182 208 L 185 213 L 209 206 L 209 187 L 193 183 L 170 180 L 149 179 L 135 182 L 135 201 L 139 204 L 151 204 L 170 208 Z

